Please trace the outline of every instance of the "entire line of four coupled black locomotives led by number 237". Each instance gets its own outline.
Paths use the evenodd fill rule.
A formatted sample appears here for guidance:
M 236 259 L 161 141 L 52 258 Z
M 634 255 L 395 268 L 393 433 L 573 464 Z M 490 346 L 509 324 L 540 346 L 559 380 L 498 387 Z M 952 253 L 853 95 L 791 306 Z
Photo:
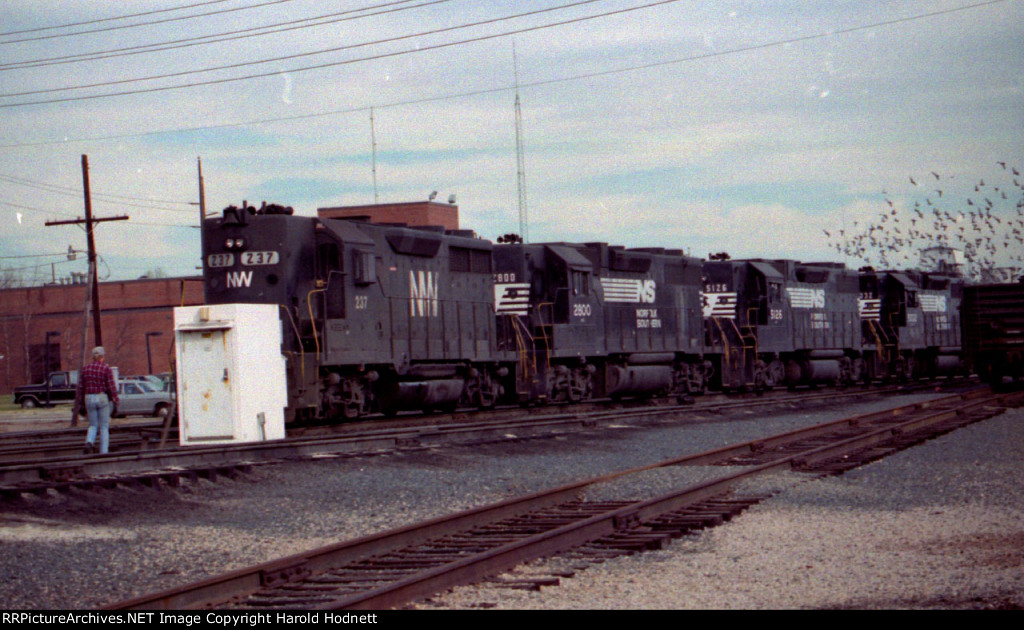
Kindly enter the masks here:
M 958 279 L 228 207 L 208 304 L 279 306 L 286 421 L 961 369 Z

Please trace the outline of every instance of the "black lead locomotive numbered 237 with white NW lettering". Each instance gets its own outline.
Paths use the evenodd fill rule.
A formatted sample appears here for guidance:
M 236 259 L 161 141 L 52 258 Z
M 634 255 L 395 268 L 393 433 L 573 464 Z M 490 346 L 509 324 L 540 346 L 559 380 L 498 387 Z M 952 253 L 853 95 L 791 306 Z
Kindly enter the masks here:
M 227 208 L 204 226 L 206 301 L 281 306 L 288 420 L 480 407 L 502 394 L 488 241 Z

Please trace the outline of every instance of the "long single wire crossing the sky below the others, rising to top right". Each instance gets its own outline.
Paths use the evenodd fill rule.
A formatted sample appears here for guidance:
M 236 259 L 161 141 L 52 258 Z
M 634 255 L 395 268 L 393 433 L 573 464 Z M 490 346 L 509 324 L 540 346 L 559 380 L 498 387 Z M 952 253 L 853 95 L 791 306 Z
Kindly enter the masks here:
M 740 46 L 740 47 L 736 47 L 736 48 L 728 48 L 728 49 L 718 50 L 718 51 L 714 51 L 714 52 L 707 52 L 707 53 L 701 53 L 701 54 L 696 54 L 696 55 L 689 55 L 689 56 L 684 56 L 684 57 L 676 57 L 676 58 L 673 58 L 673 59 L 667 59 L 667 60 L 663 60 L 663 61 L 652 61 L 650 64 L 642 64 L 642 65 L 635 65 L 635 66 L 625 66 L 625 67 L 622 67 L 622 68 L 616 68 L 616 69 L 611 69 L 611 70 L 606 70 L 606 71 L 598 71 L 598 72 L 591 72 L 591 73 L 582 73 L 582 74 L 575 74 L 575 75 L 568 75 L 568 76 L 564 76 L 564 77 L 559 77 L 559 78 L 555 78 L 555 79 L 546 79 L 546 80 L 541 80 L 541 81 L 532 81 L 532 82 L 527 82 L 527 83 L 520 83 L 519 84 L 519 88 L 522 89 L 522 88 L 544 87 L 544 86 L 549 86 L 549 85 L 557 85 L 557 84 L 561 84 L 561 83 L 569 83 L 569 82 L 575 82 L 575 81 L 583 81 L 583 80 L 593 79 L 593 78 L 598 78 L 598 77 L 607 77 L 607 76 L 614 76 L 614 75 L 618 75 L 618 74 L 632 73 L 632 72 L 636 72 L 636 71 L 650 70 L 650 69 L 653 69 L 653 68 L 660 68 L 660 67 L 667 67 L 667 66 L 677 66 L 677 65 L 680 65 L 680 64 L 687 64 L 687 62 L 691 62 L 691 61 L 700 61 L 700 60 L 705 60 L 705 59 L 710 59 L 710 58 L 715 58 L 715 57 L 729 56 L 729 55 L 740 54 L 740 53 L 744 53 L 744 52 L 752 52 L 752 51 L 757 51 L 757 50 L 765 50 L 765 49 L 775 48 L 775 47 L 779 47 L 779 46 L 786 46 L 786 45 L 791 45 L 791 44 L 794 44 L 794 43 L 800 43 L 800 42 L 806 42 L 806 41 L 813 41 L 813 40 L 816 40 L 816 39 L 830 38 L 830 37 L 834 37 L 834 36 L 837 36 L 837 35 L 845 35 L 845 34 L 856 33 L 856 32 L 860 32 L 860 31 L 867 31 L 867 30 L 871 30 L 871 29 L 883 28 L 883 27 L 887 27 L 887 26 L 895 26 L 895 25 L 902 24 L 902 23 L 916 22 L 916 20 L 921 20 L 921 19 L 927 19 L 927 18 L 930 18 L 930 17 L 938 17 L 938 16 L 950 14 L 950 13 L 956 13 L 956 12 L 968 11 L 968 10 L 972 10 L 972 9 L 976 9 L 976 8 L 982 8 L 982 7 L 993 5 L 993 4 L 1001 4 L 1001 3 L 1007 2 L 1007 1 L 1008 0 L 988 0 L 986 2 L 979 2 L 979 3 L 975 3 L 975 4 L 969 4 L 969 5 L 964 5 L 964 6 L 959 6 L 959 7 L 953 7 L 953 8 L 950 8 L 950 9 L 942 9 L 942 10 L 931 11 L 931 12 L 927 12 L 927 13 L 919 13 L 919 14 L 915 14 L 915 15 L 909 15 L 907 17 L 899 17 L 899 18 L 893 18 L 893 19 L 888 19 L 888 20 L 876 22 L 876 23 L 870 23 L 870 24 L 861 25 L 861 26 L 857 26 L 857 27 L 850 27 L 850 28 L 847 28 L 847 29 L 834 30 L 834 31 L 825 31 L 825 32 L 822 32 L 822 33 L 805 35 L 805 36 L 800 36 L 800 37 L 795 37 L 795 38 L 788 38 L 788 39 L 782 39 L 782 40 L 773 40 L 773 41 L 770 41 L 770 42 L 765 42 L 765 43 L 761 43 L 761 44 L 753 44 L 753 45 L 750 45 L 750 46 Z M 502 37 L 502 36 L 494 36 L 494 37 Z M 414 51 L 409 51 L 409 52 L 414 52 Z M 400 53 L 394 53 L 394 54 L 400 54 Z M 347 62 L 353 62 L 353 61 L 347 61 Z M 274 74 L 278 74 L 278 73 L 274 73 Z M 399 108 L 399 107 L 409 107 L 409 106 L 415 106 L 415 104 L 423 104 L 423 103 L 427 103 L 427 102 L 437 102 L 437 101 L 442 101 L 442 100 L 456 100 L 456 99 L 459 99 L 459 98 L 468 98 L 468 97 L 480 96 L 480 95 L 484 95 L 484 94 L 495 94 L 495 93 L 500 93 L 500 92 L 512 92 L 514 90 L 515 90 L 515 87 L 514 86 L 509 86 L 509 85 L 501 86 L 501 87 L 492 87 L 492 88 L 480 88 L 480 89 L 477 89 L 477 90 L 455 92 L 455 93 L 450 93 L 450 94 L 439 94 L 439 95 L 436 95 L 436 96 L 423 96 L 423 97 L 420 97 L 420 98 L 410 98 L 410 99 L 404 99 L 404 100 L 393 100 L 393 101 L 390 101 L 390 102 L 376 103 L 374 106 L 374 108 L 376 110 L 384 110 L 384 109 L 392 109 L 392 108 Z M 68 100 L 74 100 L 74 99 L 68 99 Z M 13 107 L 13 106 L 0 106 L 0 108 L 3 108 L 3 107 Z M 369 110 L 370 110 L 370 106 L 357 106 L 357 107 L 345 108 L 345 109 L 341 109 L 341 110 L 331 110 L 331 111 L 328 111 L 328 112 L 311 112 L 311 113 L 308 113 L 308 114 L 298 114 L 298 115 L 282 116 L 282 117 L 274 117 L 274 118 L 262 118 L 262 119 L 254 119 L 254 120 L 240 121 L 240 122 L 227 122 L 227 123 L 220 123 L 220 124 L 215 124 L 215 125 L 200 125 L 200 126 L 196 126 L 196 127 L 180 127 L 180 128 L 177 128 L 177 129 L 163 129 L 163 130 L 155 130 L 155 131 L 143 131 L 143 132 L 137 132 L 137 133 L 119 133 L 119 134 L 113 134 L 113 135 L 92 136 L 92 137 L 72 138 L 72 139 L 63 138 L 63 139 L 60 139 L 60 140 L 39 140 L 39 141 L 33 141 L 33 142 L 12 142 L 12 143 L 8 143 L 8 144 L 0 144 L 0 149 L 18 149 L 18 148 L 30 148 L 30 146 L 43 146 L 43 145 L 49 145 L 49 144 L 65 144 L 65 143 L 68 143 L 68 142 L 98 142 L 98 141 L 121 140 L 121 139 L 127 139 L 127 138 L 148 137 L 148 136 L 155 136 L 155 135 L 165 135 L 165 134 L 169 134 L 169 133 L 195 133 L 195 132 L 200 132 L 200 131 L 210 131 L 210 130 L 214 130 L 214 129 L 229 129 L 229 128 L 234 128 L 234 127 L 251 127 L 251 126 L 258 126 L 258 125 L 265 125 L 265 124 L 272 124 L 272 123 L 295 122 L 295 121 L 310 120 L 310 119 L 315 119 L 315 118 L 328 118 L 328 117 L 340 116 L 340 115 L 344 115 L 344 114 L 353 114 L 353 113 L 359 113 L 359 112 L 368 112 Z

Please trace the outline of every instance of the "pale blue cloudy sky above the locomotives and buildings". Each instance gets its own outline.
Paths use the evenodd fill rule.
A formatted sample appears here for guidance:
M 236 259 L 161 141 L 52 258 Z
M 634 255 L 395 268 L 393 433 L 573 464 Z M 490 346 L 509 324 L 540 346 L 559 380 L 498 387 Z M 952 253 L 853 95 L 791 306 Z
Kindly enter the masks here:
M 0 0 L 0 274 L 85 270 L 46 225 L 84 216 L 83 156 L 130 217 L 100 280 L 198 274 L 200 163 L 211 213 L 437 191 L 518 233 L 516 93 L 527 241 L 855 267 L 835 235 L 925 182 L 1012 190 L 1024 0 Z

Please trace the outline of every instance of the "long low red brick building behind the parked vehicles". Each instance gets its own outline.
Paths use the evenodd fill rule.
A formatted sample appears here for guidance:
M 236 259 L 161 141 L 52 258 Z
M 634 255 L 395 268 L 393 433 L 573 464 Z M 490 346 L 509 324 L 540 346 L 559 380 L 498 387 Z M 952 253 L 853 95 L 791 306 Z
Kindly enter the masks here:
M 0 290 L 0 393 L 45 378 L 50 371 L 82 364 L 82 332 L 88 285 L 47 285 Z M 99 284 L 103 347 L 121 374 L 170 370 L 174 306 L 203 303 L 202 279 L 161 278 Z M 86 352 L 95 345 L 92 318 Z M 148 343 L 148 355 L 146 344 Z

